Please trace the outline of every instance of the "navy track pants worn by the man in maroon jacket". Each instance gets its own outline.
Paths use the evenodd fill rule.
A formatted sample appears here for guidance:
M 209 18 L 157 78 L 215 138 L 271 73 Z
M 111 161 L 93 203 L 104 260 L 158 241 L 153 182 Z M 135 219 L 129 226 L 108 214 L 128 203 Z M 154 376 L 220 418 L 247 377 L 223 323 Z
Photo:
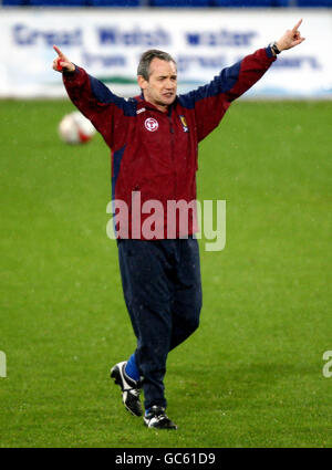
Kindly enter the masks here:
M 137 367 L 144 406 L 166 408 L 164 376 L 168 352 L 199 324 L 201 281 L 198 242 L 118 240 L 125 303 L 137 337 Z

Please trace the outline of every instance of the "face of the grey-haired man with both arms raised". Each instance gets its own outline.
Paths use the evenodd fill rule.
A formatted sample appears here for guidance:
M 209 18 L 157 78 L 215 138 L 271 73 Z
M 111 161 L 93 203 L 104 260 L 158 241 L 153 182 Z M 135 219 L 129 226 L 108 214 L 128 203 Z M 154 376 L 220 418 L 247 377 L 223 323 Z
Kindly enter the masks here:
M 160 111 L 166 111 L 174 102 L 177 90 L 177 72 L 174 62 L 154 58 L 149 64 L 149 77 L 138 75 L 138 85 L 144 98 Z

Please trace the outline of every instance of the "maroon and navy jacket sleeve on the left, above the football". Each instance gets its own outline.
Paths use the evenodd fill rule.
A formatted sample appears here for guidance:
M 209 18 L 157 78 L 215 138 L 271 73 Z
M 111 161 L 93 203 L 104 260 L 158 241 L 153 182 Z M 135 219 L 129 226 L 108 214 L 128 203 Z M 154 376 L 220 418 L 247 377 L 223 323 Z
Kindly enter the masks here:
M 73 104 L 92 122 L 108 147 L 113 148 L 115 134 L 117 139 L 120 137 L 114 129 L 122 127 L 121 134 L 125 133 L 126 119 L 122 119 L 122 116 L 126 113 L 127 102 L 79 66 L 73 73 L 63 73 L 63 84 Z

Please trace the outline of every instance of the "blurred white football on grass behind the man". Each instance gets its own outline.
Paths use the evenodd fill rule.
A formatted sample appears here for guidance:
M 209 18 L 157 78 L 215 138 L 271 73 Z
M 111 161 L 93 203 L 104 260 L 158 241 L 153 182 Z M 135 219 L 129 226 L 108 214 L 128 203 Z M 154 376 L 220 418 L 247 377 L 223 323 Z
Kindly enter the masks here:
M 66 144 L 85 144 L 95 134 L 95 128 L 79 111 L 63 116 L 59 124 L 59 135 Z

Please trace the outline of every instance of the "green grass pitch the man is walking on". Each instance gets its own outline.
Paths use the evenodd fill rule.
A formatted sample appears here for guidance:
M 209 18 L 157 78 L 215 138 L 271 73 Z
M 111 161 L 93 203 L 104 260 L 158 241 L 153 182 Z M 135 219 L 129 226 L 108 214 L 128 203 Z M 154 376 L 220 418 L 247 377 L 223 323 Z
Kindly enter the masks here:
M 232 105 L 200 144 L 198 198 L 227 200 L 200 240 L 199 330 L 169 354 L 148 430 L 110 367 L 135 347 L 114 241 L 110 153 L 62 144 L 70 102 L 0 103 L 0 447 L 331 447 L 331 102 Z

